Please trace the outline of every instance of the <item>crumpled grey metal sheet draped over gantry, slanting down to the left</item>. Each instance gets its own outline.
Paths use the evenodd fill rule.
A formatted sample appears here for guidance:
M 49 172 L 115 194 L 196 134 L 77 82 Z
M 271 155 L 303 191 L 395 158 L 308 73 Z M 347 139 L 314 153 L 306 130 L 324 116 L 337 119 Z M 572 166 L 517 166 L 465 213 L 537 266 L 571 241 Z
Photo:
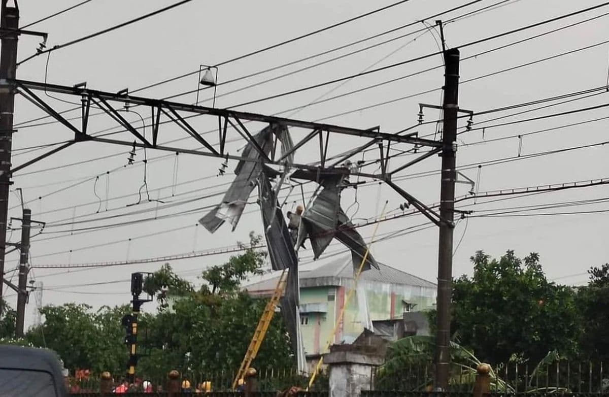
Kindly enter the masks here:
M 269 125 L 253 136 L 262 148 L 262 152 L 266 155 L 269 155 L 273 147 L 273 135 L 281 139 L 282 148 L 284 146 L 289 147 L 290 142 L 292 142 L 286 126 Z M 245 145 L 242 156 L 252 160 L 260 159 L 260 153 L 251 143 Z M 231 223 L 234 231 L 239 223 L 239 219 L 241 219 L 247 199 L 252 194 L 256 186 L 256 180 L 261 172 L 262 164 L 259 161 L 239 161 L 234 170 L 237 176 L 234 178 L 230 188 L 228 188 L 224 198 L 222 198 L 222 202 L 203 216 L 199 220 L 199 223 L 210 233 L 214 233 L 225 221 L 228 221 Z

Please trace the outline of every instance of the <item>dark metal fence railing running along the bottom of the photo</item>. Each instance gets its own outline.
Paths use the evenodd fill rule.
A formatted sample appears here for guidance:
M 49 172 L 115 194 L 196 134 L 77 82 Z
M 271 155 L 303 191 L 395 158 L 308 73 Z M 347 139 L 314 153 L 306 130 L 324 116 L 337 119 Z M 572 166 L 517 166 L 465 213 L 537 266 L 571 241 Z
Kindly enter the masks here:
M 418 362 L 401 365 L 391 371 L 387 368 L 377 368 L 370 371 L 368 384 L 364 387 L 368 392 L 364 396 L 429 396 L 433 390 L 434 365 L 432 362 Z M 118 385 L 121 378 L 115 376 L 113 385 Z M 135 390 L 142 390 L 143 381 L 152 382 L 153 393 L 147 396 L 162 393 L 167 390 L 167 379 L 150 379 L 139 377 L 139 384 Z M 229 371 L 219 373 L 183 373 L 180 382 L 188 381 L 190 390 L 197 388 L 203 382 L 211 382 L 213 393 L 218 396 L 232 396 L 231 389 L 233 374 Z M 465 364 L 452 363 L 450 368 L 449 396 L 471 395 L 476 381 L 476 368 Z M 286 390 L 292 386 L 306 387 L 308 378 L 301 376 L 294 369 L 262 369 L 256 377 L 258 390 Z M 100 392 L 99 377 L 91 376 L 89 380 L 72 381 L 70 392 L 74 395 L 98 395 Z M 325 392 L 329 390 L 326 374 L 320 375 L 314 384 L 312 392 Z M 539 365 L 523 363 L 509 363 L 497 365 L 491 371 L 490 392 L 502 396 L 545 396 L 552 394 L 565 396 L 589 396 L 605 394 L 609 396 L 609 370 L 604 362 L 585 361 L 573 362 L 557 360 Z M 228 394 L 227 394 L 228 393 Z M 267 396 L 264 392 L 261 396 Z M 525 394 L 526 393 L 526 394 Z M 209 396 L 213 394 L 207 393 Z M 236 394 L 239 395 L 239 394 Z M 323 394 L 325 395 L 325 394 Z M 435 393 L 436 396 L 440 396 Z M 311 395 L 313 396 L 313 395 Z

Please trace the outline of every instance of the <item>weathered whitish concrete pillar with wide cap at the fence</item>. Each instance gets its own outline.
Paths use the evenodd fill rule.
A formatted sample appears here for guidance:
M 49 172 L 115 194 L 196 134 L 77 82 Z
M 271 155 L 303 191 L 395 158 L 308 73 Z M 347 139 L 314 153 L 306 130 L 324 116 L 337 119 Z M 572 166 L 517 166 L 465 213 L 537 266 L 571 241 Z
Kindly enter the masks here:
M 323 357 L 328 365 L 330 397 L 359 397 L 362 390 L 370 390 L 373 369 L 383 362 L 378 353 L 359 349 L 365 346 L 347 346 L 348 350 L 331 351 Z

